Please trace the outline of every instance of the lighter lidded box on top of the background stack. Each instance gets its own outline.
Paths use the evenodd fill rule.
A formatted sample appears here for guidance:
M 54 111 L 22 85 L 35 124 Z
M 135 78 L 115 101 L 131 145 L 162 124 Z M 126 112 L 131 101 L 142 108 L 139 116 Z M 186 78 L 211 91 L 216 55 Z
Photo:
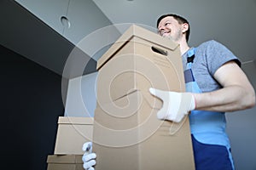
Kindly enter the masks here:
M 84 142 L 92 140 L 93 117 L 60 116 L 55 155 L 83 155 Z

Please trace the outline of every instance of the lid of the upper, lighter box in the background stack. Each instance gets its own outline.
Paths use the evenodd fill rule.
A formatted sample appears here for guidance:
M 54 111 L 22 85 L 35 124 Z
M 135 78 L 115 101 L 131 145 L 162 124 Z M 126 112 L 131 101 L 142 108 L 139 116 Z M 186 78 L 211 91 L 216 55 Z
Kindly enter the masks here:
M 93 117 L 73 117 L 73 116 L 59 116 L 59 124 L 93 124 Z

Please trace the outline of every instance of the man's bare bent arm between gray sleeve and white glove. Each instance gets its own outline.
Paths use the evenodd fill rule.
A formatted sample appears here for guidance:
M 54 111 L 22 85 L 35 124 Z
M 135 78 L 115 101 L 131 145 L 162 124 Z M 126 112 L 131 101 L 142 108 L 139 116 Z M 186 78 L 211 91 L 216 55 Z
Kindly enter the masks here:
M 255 92 L 247 76 L 234 61 L 222 65 L 214 78 L 224 87 L 217 91 L 193 94 L 195 110 L 240 111 L 255 105 Z

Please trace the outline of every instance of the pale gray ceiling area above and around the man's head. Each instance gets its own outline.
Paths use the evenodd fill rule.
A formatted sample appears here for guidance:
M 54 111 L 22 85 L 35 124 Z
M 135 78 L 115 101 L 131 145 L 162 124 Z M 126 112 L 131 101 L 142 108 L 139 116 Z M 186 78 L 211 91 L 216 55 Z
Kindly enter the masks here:
M 155 27 L 161 14 L 189 20 L 189 44 L 209 39 L 224 43 L 242 62 L 256 59 L 256 0 L 93 0 L 113 24 Z

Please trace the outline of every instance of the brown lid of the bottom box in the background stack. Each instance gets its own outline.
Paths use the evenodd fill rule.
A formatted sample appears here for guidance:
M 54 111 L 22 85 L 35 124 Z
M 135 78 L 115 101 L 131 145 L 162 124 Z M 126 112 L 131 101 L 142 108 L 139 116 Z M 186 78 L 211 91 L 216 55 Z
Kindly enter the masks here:
M 47 163 L 83 163 L 82 155 L 51 155 L 47 156 Z

